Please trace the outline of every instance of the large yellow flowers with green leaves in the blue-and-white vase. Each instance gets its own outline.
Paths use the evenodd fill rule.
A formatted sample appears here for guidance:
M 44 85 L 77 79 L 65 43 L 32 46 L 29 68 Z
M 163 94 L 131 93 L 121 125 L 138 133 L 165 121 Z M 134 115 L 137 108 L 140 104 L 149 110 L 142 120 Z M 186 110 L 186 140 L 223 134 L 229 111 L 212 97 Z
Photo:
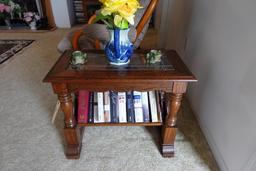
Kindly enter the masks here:
M 94 22 L 103 21 L 110 29 L 134 25 L 135 12 L 142 8 L 138 0 L 99 0 L 103 5 Z

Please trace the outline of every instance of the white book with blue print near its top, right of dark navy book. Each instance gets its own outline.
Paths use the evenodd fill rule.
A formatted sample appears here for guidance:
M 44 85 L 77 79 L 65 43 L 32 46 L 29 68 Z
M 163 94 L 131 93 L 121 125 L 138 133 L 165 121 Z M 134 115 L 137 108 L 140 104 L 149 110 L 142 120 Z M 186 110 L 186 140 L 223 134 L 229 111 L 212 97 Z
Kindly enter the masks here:
M 141 101 L 141 92 L 133 92 L 134 116 L 135 122 L 143 122 L 143 110 Z

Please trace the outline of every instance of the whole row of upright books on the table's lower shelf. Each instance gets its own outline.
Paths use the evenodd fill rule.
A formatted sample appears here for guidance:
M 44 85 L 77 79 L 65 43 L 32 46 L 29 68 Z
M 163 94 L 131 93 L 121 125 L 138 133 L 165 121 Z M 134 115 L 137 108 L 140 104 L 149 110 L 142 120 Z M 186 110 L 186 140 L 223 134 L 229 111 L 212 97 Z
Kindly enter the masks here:
M 159 93 L 88 92 L 77 97 L 78 123 L 143 123 L 162 122 Z

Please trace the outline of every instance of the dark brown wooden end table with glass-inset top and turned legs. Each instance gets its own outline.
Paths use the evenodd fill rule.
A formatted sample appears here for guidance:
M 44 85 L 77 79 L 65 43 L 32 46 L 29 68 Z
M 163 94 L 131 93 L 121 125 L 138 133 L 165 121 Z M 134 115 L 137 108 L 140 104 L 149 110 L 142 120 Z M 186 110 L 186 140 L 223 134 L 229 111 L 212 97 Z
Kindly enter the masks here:
M 66 51 L 49 71 L 43 82 L 52 84 L 65 114 L 65 154 L 68 159 L 80 157 L 83 129 L 86 126 L 161 126 L 162 154 L 164 157 L 174 155 L 177 112 L 182 95 L 186 92 L 188 83 L 197 80 L 175 51 L 162 51 L 162 62 L 151 65 L 145 62 L 147 52 L 136 51 L 129 65 L 114 67 L 108 64 L 104 52 L 99 50 L 86 51 L 87 63 L 73 66 L 70 64 L 72 51 Z M 162 116 L 163 121 L 159 123 L 78 124 L 71 93 L 79 90 L 162 90 L 165 92 L 167 113 Z

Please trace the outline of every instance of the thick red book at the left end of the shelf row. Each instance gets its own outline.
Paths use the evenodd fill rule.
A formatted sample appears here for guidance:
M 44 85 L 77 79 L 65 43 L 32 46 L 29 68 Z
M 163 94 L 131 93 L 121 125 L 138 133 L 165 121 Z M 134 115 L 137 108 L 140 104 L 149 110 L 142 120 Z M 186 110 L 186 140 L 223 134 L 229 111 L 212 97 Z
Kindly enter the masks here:
M 78 92 L 78 123 L 88 122 L 89 92 L 81 90 Z

